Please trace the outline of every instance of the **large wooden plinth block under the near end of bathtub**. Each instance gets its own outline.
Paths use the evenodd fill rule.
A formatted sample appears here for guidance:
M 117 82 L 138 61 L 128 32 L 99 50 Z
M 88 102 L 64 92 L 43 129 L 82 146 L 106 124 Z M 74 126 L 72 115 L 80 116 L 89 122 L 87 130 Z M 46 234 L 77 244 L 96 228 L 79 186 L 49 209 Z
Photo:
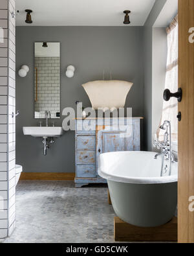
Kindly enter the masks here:
M 177 241 L 177 217 L 159 227 L 136 227 L 114 217 L 114 240 L 135 241 Z

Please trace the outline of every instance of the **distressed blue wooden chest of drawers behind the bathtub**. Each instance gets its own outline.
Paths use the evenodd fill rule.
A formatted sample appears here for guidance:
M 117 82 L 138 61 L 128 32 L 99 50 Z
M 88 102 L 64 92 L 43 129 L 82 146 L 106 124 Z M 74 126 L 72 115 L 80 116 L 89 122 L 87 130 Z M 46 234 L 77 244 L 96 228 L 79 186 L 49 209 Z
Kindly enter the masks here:
M 98 157 L 105 152 L 139 151 L 140 120 L 118 119 L 76 119 L 76 177 L 75 187 L 89 183 L 106 183 L 98 176 Z M 122 129 L 118 129 L 119 127 Z M 127 128 L 129 136 L 121 136 Z

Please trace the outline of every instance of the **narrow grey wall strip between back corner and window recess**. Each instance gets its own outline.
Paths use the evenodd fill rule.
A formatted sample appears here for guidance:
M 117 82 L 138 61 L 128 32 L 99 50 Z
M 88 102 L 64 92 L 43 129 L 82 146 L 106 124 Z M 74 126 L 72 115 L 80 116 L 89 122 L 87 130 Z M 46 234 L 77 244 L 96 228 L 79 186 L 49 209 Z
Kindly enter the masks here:
M 144 143 L 152 150 L 152 50 L 153 25 L 167 0 L 156 0 L 144 25 Z

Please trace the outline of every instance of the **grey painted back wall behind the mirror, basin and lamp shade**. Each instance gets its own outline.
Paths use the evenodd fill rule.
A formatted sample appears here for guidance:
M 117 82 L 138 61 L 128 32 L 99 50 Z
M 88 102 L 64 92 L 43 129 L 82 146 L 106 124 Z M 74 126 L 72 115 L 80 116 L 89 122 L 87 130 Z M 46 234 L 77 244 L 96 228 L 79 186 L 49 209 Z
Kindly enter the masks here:
M 24 172 L 74 172 L 74 132 L 57 139 L 43 156 L 40 139 L 23 135 L 23 126 L 36 126 L 34 119 L 34 42 L 61 42 L 61 110 L 75 108 L 80 100 L 91 106 L 81 84 L 90 80 L 128 80 L 134 83 L 126 106 L 133 116 L 144 113 L 143 27 L 16 27 L 16 70 L 27 64 L 25 78 L 16 76 L 16 161 Z M 74 78 L 65 76 L 67 65 L 76 67 Z M 63 117 L 56 120 L 61 125 Z

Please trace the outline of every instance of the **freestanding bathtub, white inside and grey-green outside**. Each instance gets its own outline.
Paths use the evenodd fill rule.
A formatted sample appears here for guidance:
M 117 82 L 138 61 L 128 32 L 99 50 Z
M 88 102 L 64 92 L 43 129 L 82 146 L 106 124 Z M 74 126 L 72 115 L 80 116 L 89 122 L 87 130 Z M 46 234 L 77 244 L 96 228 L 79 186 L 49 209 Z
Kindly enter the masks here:
M 171 176 L 160 177 L 162 158 L 154 152 L 100 155 L 98 174 L 107 179 L 113 209 L 125 222 L 155 227 L 173 218 L 177 208 L 177 163 Z

